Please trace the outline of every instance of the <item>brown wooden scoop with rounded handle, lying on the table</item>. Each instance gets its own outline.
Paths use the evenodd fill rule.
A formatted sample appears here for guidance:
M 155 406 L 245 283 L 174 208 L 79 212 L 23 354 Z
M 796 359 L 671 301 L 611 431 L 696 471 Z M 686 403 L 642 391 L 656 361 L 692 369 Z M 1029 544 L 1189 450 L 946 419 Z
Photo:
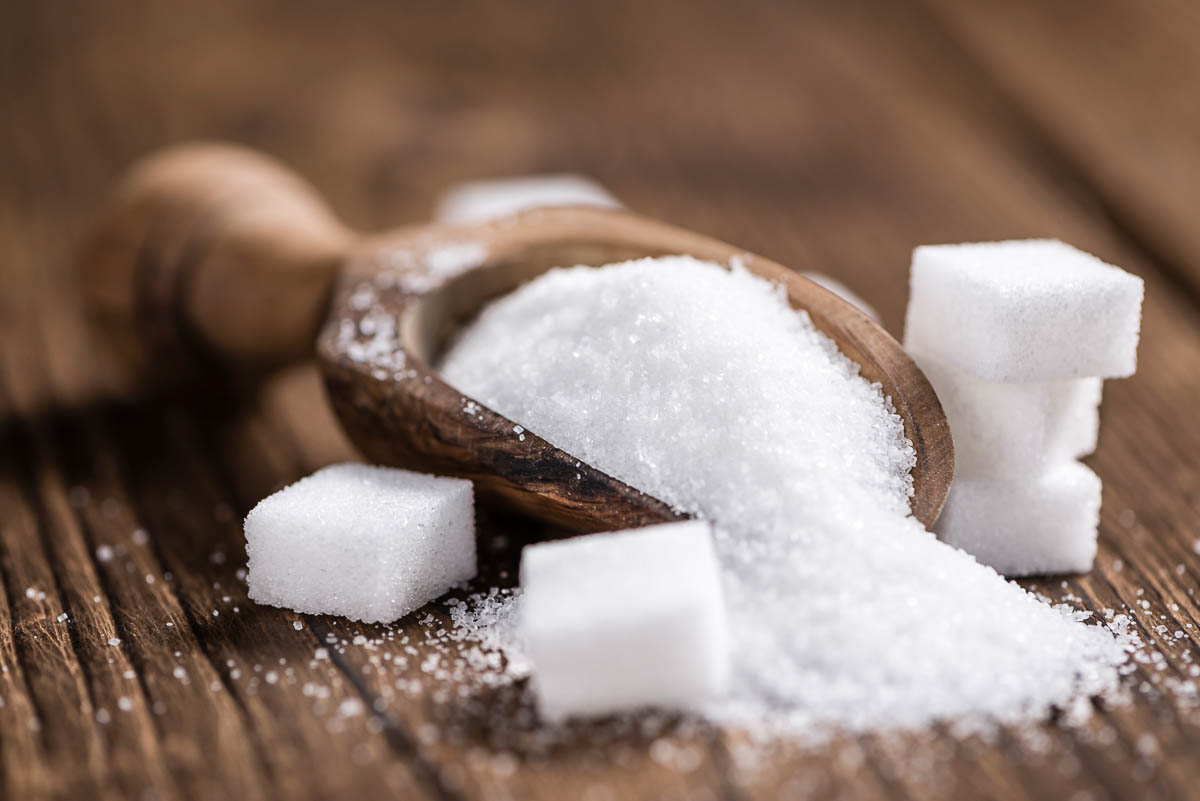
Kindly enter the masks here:
M 666 254 L 738 261 L 781 283 L 883 385 L 917 451 L 913 513 L 932 525 L 954 450 L 934 390 L 895 339 L 774 261 L 626 211 L 540 209 L 362 236 L 275 161 L 187 145 L 134 167 L 84 269 L 104 339 L 136 373 L 221 380 L 306 357 L 316 343 L 329 398 L 366 458 L 470 478 L 484 500 L 593 531 L 677 513 L 464 397 L 433 365 L 487 301 L 551 267 Z

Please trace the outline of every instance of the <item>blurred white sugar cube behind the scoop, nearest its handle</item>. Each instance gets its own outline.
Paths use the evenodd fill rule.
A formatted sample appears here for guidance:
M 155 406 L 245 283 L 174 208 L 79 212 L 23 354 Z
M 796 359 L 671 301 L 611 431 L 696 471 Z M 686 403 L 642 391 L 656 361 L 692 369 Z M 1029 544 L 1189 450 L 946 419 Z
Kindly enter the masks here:
M 601 206 L 620 201 L 582 175 L 523 175 L 472 181 L 451 187 L 438 199 L 439 223 L 481 223 L 544 206 Z

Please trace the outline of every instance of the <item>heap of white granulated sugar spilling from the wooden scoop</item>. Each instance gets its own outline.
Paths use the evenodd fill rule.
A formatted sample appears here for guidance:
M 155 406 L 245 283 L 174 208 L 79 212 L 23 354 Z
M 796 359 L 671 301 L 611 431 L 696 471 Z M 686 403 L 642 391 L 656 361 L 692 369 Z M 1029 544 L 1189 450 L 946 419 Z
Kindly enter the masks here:
M 557 270 L 487 308 L 443 369 L 715 524 L 733 643 L 732 689 L 703 710 L 718 721 L 974 729 L 1117 687 L 1122 640 L 907 516 L 914 456 L 880 387 L 748 272 L 689 258 Z

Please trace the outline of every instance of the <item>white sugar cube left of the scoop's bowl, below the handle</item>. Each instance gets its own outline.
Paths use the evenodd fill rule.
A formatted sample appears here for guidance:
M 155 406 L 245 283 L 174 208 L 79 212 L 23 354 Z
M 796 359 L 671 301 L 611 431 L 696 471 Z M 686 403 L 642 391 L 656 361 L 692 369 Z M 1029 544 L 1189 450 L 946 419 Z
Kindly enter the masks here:
M 386 622 L 475 576 L 469 481 L 336 464 L 246 516 L 250 597 Z

